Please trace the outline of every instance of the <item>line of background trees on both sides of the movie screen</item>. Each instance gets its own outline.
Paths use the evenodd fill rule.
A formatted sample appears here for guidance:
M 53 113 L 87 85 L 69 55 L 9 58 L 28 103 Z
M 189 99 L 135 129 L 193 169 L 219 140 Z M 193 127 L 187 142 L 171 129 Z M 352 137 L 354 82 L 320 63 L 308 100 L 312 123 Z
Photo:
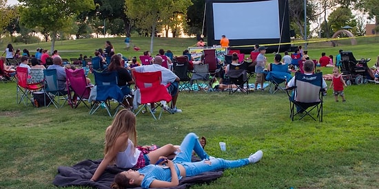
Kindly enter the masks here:
M 24 43 L 39 32 L 45 41 L 76 38 L 90 38 L 91 34 L 114 36 L 139 34 L 152 36 L 157 31 L 168 31 L 177 36 L 181 30 L 185 34 L 201 34 L 203 30 L 204 0 L 19 0 L 19 5 L 7 6 L 0 0 L 1 34 L 20 34 Z M 328 38 L 340 27 L 349 25 L 357 36 L 365 33 L 362 16 L 351 10 L 368 14 L 367 19 L 375 19 L 378 25 L 379 3 L 377 0 L 288 0 L 291 29 L 298 38 L 307 33 L 318 32 Z M 307 3 L 304 31 L 304 3 Z M 233 11 L 233 10 L 225 10 Z M 249 16 L 249 15 L 247 15 Z M 254 15 L 250 15 L 254 17 Z M 322 18 L 322 21 L 319 19 Z M 309 30 L 311 23 L 318 27 Z M 378 29 L 378 28 L 377 28 Z M 317 30 L 317 31 L 316 31 Z

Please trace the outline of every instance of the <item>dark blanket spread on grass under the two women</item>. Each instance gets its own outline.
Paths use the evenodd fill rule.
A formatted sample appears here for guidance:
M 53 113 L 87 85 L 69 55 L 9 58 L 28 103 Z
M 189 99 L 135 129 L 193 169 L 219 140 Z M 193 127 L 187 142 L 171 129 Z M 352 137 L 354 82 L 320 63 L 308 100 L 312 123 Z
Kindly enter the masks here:
M 98 179 L 98 181 L 90 181 L 92 175 L 96 168 L 99 166 L 101 159 L 92 161 L 90 159 L 84 160 L 83 162 L 79 162 L 74 166 L 60 166 L 58 168 L 58 175 L 55 177 L 52 182 L 56 186 L 88 186 L 93 188 L 110 188 L 114 176 L 117 173 L 120 173 L 124 170 L 123 168 L 118 168 L 116 166 L 107 166 L 103 175 Z M 207 183 L 209 181 L 214 181 L 215 179 L 223 176 L 223 171 L 212 171 L 205 172 L 201 175 L 197 175 L 194 177 L 185 177 L 181 179 L 179 185 L 176 187 L 172 187 L 175 189 L 178 188 L 187 188 L 193 184 L 202 184 Z M 139 187 L 141 188 L 141 187 Z

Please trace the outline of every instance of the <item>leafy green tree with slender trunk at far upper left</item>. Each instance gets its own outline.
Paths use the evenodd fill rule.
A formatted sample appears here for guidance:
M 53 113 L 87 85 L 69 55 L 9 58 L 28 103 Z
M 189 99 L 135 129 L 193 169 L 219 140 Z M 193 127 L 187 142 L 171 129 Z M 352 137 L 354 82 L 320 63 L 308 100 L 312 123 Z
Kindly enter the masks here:
M 21 2 L 21 23 L 26 27 L 40 27 L 45 38 L 50 33 L 51 51 L 60 30 L 70 27 L 73 17 L 82 10 L 94 9 L 93 0 L 19 0 Z

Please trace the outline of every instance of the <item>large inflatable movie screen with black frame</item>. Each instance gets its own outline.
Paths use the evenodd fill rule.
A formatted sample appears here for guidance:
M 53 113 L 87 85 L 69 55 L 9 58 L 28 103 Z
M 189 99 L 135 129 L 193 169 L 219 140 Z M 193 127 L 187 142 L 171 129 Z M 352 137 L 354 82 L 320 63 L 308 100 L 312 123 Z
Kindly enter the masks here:
M 287 3 L 287 0 L 207 0 L 208 45 L 219 45 L 225 35 L 235 49 L 250 51 L 254 44 L 273 44 L 268 47 L 277 52 L 278 43 L 291 40 Z M 290 47 L 280 45 L 280 51 Z

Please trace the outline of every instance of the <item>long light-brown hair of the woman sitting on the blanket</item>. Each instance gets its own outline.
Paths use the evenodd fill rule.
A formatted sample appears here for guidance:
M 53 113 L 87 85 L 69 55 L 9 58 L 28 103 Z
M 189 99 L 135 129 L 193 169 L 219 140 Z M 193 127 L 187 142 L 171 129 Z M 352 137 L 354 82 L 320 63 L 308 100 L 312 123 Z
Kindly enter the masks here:
M 137 145 L 136 116 L 127 109 L 122 109 L 117 113 L 111 126 L 105 132 L 104 154 L 114 148 L 117 138 L 123 133 L 127 133 L 127 137 L 132 140 L 134 146 Z M 111 163 L 114 163 L 114 159 L 112 159 Z

